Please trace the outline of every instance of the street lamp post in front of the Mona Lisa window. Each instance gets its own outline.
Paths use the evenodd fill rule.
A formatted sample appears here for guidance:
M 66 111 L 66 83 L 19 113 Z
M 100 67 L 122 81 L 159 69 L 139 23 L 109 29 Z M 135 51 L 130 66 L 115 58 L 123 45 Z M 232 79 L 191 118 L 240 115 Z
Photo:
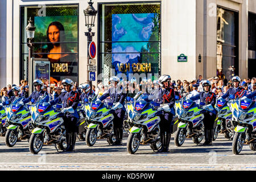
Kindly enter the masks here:
M 33 48 L 33 41 L 34 41 L 34 35 L 35 35 L 35 27 L 32 24 L 31 17 L 28 20 L 28 25 L 26 27 L 27 31 L 27 47 L 28 47 L 28 84 L 30 86 L 29 88 L 29 94 L 32 93 L 33 88 L 33 73 L 32 73 L 32 48 Z

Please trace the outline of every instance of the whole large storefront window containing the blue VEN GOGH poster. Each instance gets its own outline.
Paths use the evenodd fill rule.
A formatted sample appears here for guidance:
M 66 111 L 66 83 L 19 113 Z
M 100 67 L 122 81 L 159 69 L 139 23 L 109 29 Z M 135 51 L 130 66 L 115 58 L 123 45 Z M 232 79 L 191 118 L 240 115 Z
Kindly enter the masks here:
M 98 70 L 105 78 L 159 74 L 160 3 L 101 4 L 98 15 Z

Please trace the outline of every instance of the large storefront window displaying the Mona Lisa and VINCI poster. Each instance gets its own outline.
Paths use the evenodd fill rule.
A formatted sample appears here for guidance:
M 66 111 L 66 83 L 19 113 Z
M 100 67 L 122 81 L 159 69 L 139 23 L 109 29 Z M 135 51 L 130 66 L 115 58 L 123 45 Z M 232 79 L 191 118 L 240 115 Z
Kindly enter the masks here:
M 25 27 L 33 20 L 35 30 L 32 56 L 50 61 L 50 82 L 56 85 L 64 78 L 78 81 L 78 5 L 22 6 L 21 56 L 23 72 L 20 77 L 28 79 L 28 47 Z M 48 86 L 48 85 L 47 85 Z

